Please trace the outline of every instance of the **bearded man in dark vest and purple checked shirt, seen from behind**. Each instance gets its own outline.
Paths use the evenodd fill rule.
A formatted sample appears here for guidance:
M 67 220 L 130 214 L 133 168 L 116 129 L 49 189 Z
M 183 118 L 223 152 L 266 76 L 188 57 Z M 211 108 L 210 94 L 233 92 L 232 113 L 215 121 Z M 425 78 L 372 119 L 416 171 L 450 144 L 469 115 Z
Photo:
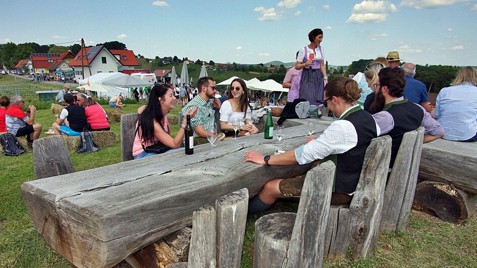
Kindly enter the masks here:
M 373 114 L 376 123 L 381 128 L 381 135 L 389 135 L 392 138 L 391 162 L 392 168 L 396 159 L 397 151 L 401 145 L 402 136 L 405 132 L 424 127 L 424 143 L 444 137 L 444 128 L 434 120 L 422 106 L 404 99 L 404 87 L 406 78 L 400 68 L 384 68 L 378 74 L 375 86 L 376 97 L 371 108 L 380 112 Z

